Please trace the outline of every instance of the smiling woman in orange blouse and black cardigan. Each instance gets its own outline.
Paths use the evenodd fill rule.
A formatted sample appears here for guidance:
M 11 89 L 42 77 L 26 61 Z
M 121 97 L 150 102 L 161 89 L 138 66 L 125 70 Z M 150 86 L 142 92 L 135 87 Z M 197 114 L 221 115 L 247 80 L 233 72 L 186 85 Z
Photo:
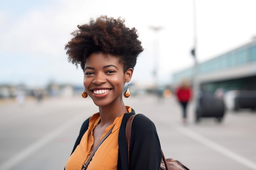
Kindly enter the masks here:
M 66 170 L 81 170 L 98 142 L 108 133 L 93 155 L 87 170 L 159 170 L 162 159 L 155 125 L 144 115 L 132 123 L 130 165 L 125 128 L 135 111 L 122 99 L 125 82 L 130 82 L 137 56 L 143 51 L 137 30 L 120 18 L 101 16 L 78 26 L 65 45 L 68 60 L 84 71 L 83 97 L 89 95 L 99 113 L 85 120 Z M 128 97 L 127 89 L 125 97 Z M 111 131 L 112 129 L 112 131 Z

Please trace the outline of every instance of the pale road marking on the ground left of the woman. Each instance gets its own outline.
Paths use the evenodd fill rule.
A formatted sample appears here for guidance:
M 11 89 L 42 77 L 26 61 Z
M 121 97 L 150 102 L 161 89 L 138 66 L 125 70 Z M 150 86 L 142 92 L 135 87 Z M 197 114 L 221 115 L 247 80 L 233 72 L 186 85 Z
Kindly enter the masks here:
M 65 132 L 70 127 L 74 126 L 74 124 L 81 121 L 81 119 L 84 119 L 84 114 L 77 115 L 76 117 L 70 119 L 63 125 L 59 126 L 52 132 L 48 133 L 38 141 L 36 141 L 34 144 L 31 144 L 24 150 L 21 150 L 18 152 L 14 157 L 11 157 L 9 160 L 5 161 L 0 165 L 0 170 L 9 170 L 10 168 L 16 166 L 20 161 L 26 159 L 30 155 L 32 155 L 34 152 L 42 148 L 43 146 L 47 145 L 50 141 L 57 138 L 59 135 L 61 135 L 63 132 Z

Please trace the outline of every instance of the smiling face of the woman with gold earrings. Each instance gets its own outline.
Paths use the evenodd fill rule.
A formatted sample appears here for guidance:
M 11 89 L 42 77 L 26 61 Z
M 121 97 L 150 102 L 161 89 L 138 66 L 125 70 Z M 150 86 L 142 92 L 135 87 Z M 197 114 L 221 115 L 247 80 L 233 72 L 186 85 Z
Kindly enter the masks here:
M 97 106 L 120 104 L 124 83 L 130 81 L 132 72 L 129 68 L 124 73 L 115 55 L 92 53 L 86 59 L 83 85 Z

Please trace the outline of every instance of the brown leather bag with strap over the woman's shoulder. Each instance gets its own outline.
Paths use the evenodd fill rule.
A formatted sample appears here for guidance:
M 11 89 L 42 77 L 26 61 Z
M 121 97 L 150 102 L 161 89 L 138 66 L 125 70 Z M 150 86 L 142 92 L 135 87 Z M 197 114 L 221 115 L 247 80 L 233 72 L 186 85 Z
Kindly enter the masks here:
M 126 144 L 127 144 L 127 151 L 128 151 L 128 165 L 130 165 L 130 156 L 129 156 L 129 150 L 130 150 L 130 136 L 132 132 L 132 121 L 136 115 L 132 115 L 129 117 L 127 124 L 126 124 Z M 189 170 L 186 166 L 184 166 L 180 161 L 177 161 L 175 159 L 171 158 L 165 158 L 164 153 L 162 152 L 162 161 L 160 165 L 160 170 Z M 129 167 L 130 169 L 130 167 Z

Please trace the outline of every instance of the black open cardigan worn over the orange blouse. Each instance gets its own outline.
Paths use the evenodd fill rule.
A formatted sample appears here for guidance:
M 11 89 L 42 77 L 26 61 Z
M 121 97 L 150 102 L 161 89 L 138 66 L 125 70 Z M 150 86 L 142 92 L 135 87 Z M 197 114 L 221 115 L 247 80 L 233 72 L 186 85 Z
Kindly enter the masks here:
M 129 170 L 125 130 L 128 118 L 134 114 L 133 109 L 131 113 L 125 113 L 121 122 L 118 136 L 117 170 Z M 72 153 L 88 129 L 89 119 L 84 121 Z M 159 170 L 162 159 L 160 142 L 155 125 L 148 117 L 138 114 L 134 118 L 130 140 L 130 170 Z

